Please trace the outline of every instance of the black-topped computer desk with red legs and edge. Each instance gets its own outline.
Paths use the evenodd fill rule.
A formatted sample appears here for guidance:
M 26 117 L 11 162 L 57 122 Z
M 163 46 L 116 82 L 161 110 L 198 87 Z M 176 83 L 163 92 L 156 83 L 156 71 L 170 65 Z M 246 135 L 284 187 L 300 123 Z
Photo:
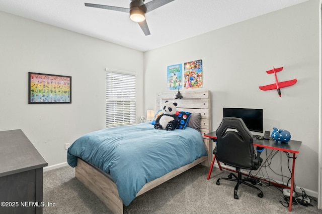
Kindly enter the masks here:
M 214 142 L 217 141 L 217 135 L 216 135 L 215 131 L 210 132 L 208 134 L 205 134 L 204 136 L 209 137 Z M 279 186 L 282 186 L 284 188 L 290 188 L 291 194 L 290 194 L 290 201 L 289 201 L 288 211 L 292 210 L 292 199 L 293 199 L 292 192 L 294 191 L 294 189 L 293 189 L 294 188 L 294 168 L 295 168 L 295 159 L 296 159 L 295 154 L 299 153 L 299 149 L 300 149 L 301 144 L 302 144 L 301 141 L 296 141 L 296 140 L 290 140 L 290 141 L 288 141 L 288 143 L 277 143 L 275 140 L 265 140 L 265 139 L 262 139 L 262 140 L 254 139 L 254 141 L 253 141 L 254 146 L 260 146 L 260 147 L 264 147 L 264 148 L 269 148 L 269 149 L 274 149 L 274 150 L 280 150 L 280 151 L 293 153 L 291 187 L 288 187 L 286 185 L 278 184 Z M 210 178 L 215 158 L 216 158 L 216 155 L 213 155 L 212 164 L 210 166 L 210 170 L 209 170 L 209 173 L 208 173 L 207 180 L 209 180 L 209 178 Z M 227 169 L 229 171 L 234 171 L 234 170 L 231 170 L 229 168 L 222 167 L 218 160 L 217 160 L 217 163 L 218 163 L 218 166 L 219 166 L 220 170 Z M 273 183 L 273 182 L 271 182 L 271 183 Z M 277 184 L 277 183 L 275 183 L 275 184 Z

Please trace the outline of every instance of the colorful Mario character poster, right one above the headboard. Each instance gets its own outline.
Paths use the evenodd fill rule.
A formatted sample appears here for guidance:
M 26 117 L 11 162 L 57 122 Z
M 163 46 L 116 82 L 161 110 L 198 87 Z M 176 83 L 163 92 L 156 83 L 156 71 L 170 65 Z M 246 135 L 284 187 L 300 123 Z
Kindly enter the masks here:
M 202 60 L 184 63 L 184 87 L 202 88 Z

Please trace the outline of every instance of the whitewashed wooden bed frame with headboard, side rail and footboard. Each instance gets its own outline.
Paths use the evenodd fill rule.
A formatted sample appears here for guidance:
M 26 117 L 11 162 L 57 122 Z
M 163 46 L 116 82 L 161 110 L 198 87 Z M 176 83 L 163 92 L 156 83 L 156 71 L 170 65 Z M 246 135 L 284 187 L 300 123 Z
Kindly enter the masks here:
M 174 99 L 175 92 L 157 93 L 156 107 L 160 109 L 166 100 L 177 102 L 177 110 L 188 111 L 191 113 L 201 113 L 201 133 L 209 133 L 211 131 L 211 100 L 210 91 L 200 91 L 198 89 L 184 91 L 182 93 L 183 99 Z M 181 174 L 182 172 L 202 164 L 210 166 L 211 162 L 211 141 L 209 138 L 203 138 L 206 145 L 208 157 L 201 157 L 192 163 L 175 169 L 162 177 L 156 178 L 146 183 L 142 189 L 136 194 L 139 196 L 144 192 L 170 180 L 171 178 Z M 119 197 L 118 190 L 114 181 L 105 172 L 94 167 L 82 159 L 77 159 L 77 166 L 75 167 L 75 177 L 81 181 L 87 188 L 89 188 L 104 204 L 111 209 L 113 213 L 123 213 L 123 201 Z

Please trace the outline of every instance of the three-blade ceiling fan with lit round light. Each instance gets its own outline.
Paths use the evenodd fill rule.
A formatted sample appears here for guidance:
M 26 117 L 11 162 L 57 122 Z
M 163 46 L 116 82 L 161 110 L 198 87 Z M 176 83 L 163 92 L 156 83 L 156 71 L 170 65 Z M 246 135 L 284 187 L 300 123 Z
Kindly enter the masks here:
M 85 3 L 85 6 L 130 13 L 130 19 L 134 22 L 137 22 L 141 27 L 145 36 L 147 36 L 147 35 L 150 35 L 150 30 L 145 20 L 145 14 L 161 6 L 164 6 L 170 2 L 173 2 L 175 0 L 153 0 L 146 4 L 144 4 L 144 1 L 145 0 L 131 0 L 130 8 L 120 8 L 120 7 L 114 7 L 114 6 L 96 5 L 96 4 L 89 4 L 89 3 Z

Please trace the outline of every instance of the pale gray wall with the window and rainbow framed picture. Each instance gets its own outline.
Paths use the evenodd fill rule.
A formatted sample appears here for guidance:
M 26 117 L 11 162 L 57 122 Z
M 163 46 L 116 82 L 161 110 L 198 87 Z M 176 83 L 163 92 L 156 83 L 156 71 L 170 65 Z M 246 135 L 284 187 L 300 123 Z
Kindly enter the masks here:
M 105 68 L 137 73 L 143 114 L 143 53 L 0 12 L 0 131 L 22 129 L 49 166 L 65 143 L 105 128 Z M 28 72 L 72 77 L 71 104 L 28 104 Z M 14 158 L 14 156 L 13 156 Z

